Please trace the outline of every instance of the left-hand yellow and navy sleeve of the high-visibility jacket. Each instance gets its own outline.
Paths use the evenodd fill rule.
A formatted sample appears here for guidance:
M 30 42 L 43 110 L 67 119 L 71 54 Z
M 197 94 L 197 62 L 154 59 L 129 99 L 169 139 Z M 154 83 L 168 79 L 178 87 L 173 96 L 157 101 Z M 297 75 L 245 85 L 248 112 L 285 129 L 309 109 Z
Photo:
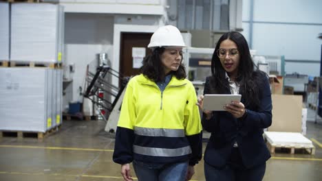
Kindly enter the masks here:
M 125 164 L 133 160 L 133 121 L 136 117 L 135 100 L 131 83 L 127 85 L 125 96 L 122 101 L 118 127 L 116 128 L 116 138 L 114 146 L 113 160 L 118 164 Z

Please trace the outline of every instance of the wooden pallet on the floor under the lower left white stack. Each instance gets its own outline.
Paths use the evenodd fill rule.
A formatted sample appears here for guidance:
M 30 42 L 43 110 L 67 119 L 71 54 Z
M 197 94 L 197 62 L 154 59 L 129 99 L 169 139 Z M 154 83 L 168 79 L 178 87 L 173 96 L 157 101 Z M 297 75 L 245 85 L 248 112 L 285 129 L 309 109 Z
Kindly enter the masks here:
M 11 131 L 11 130 L 2 130 L 0 131 L 0 138 L 2 137 L 16 137 L 16 138 L 38 138 L 42 140 L 46 136 L 57 132 L 61 128 L 61 125 L 58 125 L 46 132 L 28 132 L 28 131 Z

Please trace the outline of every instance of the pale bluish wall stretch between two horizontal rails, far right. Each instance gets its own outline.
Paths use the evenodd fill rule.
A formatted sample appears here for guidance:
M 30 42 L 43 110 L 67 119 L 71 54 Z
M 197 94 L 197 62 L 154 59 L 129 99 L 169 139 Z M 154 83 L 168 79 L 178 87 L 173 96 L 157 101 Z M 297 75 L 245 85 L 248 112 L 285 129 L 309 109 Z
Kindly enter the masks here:
M 253 47 L 261 55 L 285 55 L 290 60 L 319 60 L 321 27 L 255 23 Z M 268 30 L 269 29 L 269 30 Z

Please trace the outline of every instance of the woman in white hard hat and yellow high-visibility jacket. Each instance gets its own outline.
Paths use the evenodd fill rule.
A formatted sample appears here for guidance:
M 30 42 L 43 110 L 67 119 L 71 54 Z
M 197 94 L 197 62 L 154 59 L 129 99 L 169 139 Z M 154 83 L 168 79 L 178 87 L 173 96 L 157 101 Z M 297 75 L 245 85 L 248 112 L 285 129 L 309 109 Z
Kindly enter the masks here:
M 160 27 L 137 75 L 127 84 L 116 130 L 113 160 L 125 180 L 190 180 L 202 158 L 202 126 L 193 84 L 182 64 L 177 27 Z

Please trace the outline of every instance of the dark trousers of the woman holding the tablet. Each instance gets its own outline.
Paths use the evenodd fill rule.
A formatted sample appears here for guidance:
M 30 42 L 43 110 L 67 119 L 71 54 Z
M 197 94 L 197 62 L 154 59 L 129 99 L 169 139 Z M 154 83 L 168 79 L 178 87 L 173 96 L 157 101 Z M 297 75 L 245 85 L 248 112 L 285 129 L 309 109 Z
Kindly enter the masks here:
M 251 169 L 244 167 L 238 148 L 234 148 L 227 165 L 213 167 L 204 162 L 204 176 L 208 181 L 261 181 L 264 178 L 266 162 Z

